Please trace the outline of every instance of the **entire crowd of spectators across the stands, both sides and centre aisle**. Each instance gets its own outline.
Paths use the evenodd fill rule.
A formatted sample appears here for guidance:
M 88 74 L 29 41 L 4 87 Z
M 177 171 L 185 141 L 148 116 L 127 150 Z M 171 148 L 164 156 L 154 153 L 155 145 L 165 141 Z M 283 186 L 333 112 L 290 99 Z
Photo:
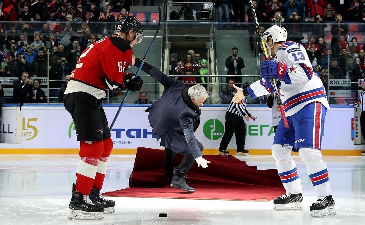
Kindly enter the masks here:
M 248 22 L 253 22 L 251 10 L 247 9 L 248 0 L 213 2 L 219 22 L 246 22 L 246 18 Z M 148 1 L 143 1 L 143 5 L 147 3 Z M 149 3 L 154 5 L 154 1 Z M 76 66 L 82 51 L 92 42 L 113 33 L 115 23 L 105 22 L 115 22 L 128 15 L 130 5 L 131 0 L 4 0 L 0 20 L 9 22 L 0 23 L 0 76 L 13 77 L 25 85 L 26 79 L 22 83 L 22 74 L 26 72 L 32 79 L 27 84 L 34 91 L 45 87 L 44 84 L 48 81 L 42 77 L 47 77 L 49 72 L 49 80 L 53 82 L 49 83 L 49 87 L 53 90 L 46 93 L 46 96 L 61 101 L 67 77 Z M 192 3 L 184 5 L 187 18 L 191 16 L 190 10 L 199 10 Z M 288 39 L 305 46 L 313 69 L 323 81 L 328 77 L 349 78 L 351 81 L 364 77 L 363 40 L 358 43 L 357 37 L 350 36 L 351 41 L 348 39 L 351 32 L 347 22 L 365 21 L 365 0 L 345 0 L 343 4 L 337 0 L 253 0 L 253 5 L 259 22 L 267 23 L 260 27 L 261 31 L 270 26 L 268 24 L 287 28 Z M 307 27 L 296 25 L 301 22 L 311 24 Z M 359 25 L 358 31 L 361 32 L 364 27 Z M 248 30 L 252 50 L 255 29 L 251 27 Z M 311 37 L 307 43 L 303 43 L 303 32 L 308 30 Z M 331 34 L 330 41 L 325 38 L 327 33 Z M 326 39 L 331 45 L 327 45 Z M 239 75 L 245 64 L 237 56 L 237 48 L 232 49 L 232 53 L 226 60 L 226 70 L 227 75 L 234 76 L 227 76 L 227 87 L 230 78 L 236 85 L 243 83 Z M 49 62 L 46 60 L 48 57 Z M 181 57 L 172 53 L 170 59 L 170 75 L 176 76 L 176 79 L 182 80 L 186 85 L 200 83 L 207 87 L 208 63 L 211 59 L 206 54 L 189 50 Z M 38 87 L 34 86 L 37 83 L 34 82 L 36 77 L 41 78 Z M 16 84 L 13 86 L 15 88 Z M 15 92 L 14 89 L 13 93 Z M 23 102 L 32 100 L 30 93 Z

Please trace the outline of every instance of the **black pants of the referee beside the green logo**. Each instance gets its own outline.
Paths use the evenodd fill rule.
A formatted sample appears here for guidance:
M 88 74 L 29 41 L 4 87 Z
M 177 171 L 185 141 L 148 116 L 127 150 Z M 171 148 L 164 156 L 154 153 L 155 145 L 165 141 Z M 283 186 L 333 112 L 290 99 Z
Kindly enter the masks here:
M 237 152 L 245 150 L 246 134 L 245 121 L 242 116 L 226 111 L 226 123 L 224 125 L 224 135 L 220 142 L 219 149 L 227 149 L 229 142 L 236 136 Z

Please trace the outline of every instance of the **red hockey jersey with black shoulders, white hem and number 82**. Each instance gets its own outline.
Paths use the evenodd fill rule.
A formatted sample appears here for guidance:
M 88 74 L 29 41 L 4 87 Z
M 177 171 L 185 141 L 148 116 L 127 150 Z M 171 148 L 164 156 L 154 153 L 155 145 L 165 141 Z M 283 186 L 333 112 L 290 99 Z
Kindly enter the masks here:
M 132 54 L 130 44 L 119 34 L 92 43 L 80 55 L 65 94 L 82 91 L 97 99 L 105 97 L 108 86 L 119 87 L 123 83 L 124 71 L 132 65 Z

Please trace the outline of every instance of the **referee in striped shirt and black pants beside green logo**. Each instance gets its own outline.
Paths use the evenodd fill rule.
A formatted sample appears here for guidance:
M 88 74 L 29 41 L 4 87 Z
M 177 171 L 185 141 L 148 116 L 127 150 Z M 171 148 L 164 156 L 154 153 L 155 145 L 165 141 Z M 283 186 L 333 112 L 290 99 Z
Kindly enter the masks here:
M 247 88 L 250 85 L 251 84 L 247 82 L 243 84 L 243 88 Z M 247 121 L 250 118 L 255 121 L 256 118 L 246 109 L 246 103 L 246 98 L 242 100 L 242 103 L 237 104 L 234 104 L 231 100 L 226 111 L 226 124 L 224 125 L 224 135 L 219 145 L 219 155 L 228 155 L 227 146 L 233 137 L 233 133 L 236 136 L 237 155 L 249 155 L 249 151 L 245 150 L 246 134 L 243 117 Z

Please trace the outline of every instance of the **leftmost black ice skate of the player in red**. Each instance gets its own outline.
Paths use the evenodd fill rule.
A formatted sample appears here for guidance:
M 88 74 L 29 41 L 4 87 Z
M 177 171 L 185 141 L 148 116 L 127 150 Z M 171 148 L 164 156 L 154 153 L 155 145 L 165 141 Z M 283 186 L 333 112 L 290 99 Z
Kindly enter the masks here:
M 72 197 L 69 208 L 71 210 L 69 220 L 101 220 L 104 218 L 103 206 L 98 206 L 92 203 L 89 195 L 83 195 L 75 190 L 73 184 Z

